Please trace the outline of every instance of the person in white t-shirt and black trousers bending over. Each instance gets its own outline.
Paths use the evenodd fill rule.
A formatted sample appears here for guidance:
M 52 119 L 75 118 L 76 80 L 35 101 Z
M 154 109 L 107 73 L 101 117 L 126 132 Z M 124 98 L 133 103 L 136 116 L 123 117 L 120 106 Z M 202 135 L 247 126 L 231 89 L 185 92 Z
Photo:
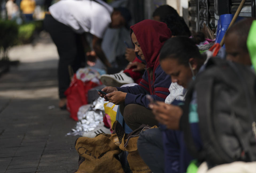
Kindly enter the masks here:
M 64 92 L 70 84 L 68 66 L 74 72 L 84 67 L 85 52 L 87 52 L 87 60 L 93 62 L 99 57 L 107 67 L 111 67 L 101 48 L 104 33 L 108 27 L 127 26 L 130 19 L 128 9 L 123 7 L 113 9 L 100 0 L 61 0 L 49 7 L 44 27 L 50 33 L 60 56 L 58 64 L 60 108 L 65 109 L 66 105 Z M 86 33 L 93 35 L 93 51 L 85 39 Z

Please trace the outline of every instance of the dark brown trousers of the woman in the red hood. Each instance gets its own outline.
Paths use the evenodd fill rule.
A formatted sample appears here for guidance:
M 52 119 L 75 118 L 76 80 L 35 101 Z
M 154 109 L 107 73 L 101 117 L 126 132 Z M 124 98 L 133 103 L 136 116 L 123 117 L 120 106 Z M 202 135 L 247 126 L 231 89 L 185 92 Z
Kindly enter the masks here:
M 142 124 L 149 125 L 151 127 L 158 125 L 158 122 L 155 119 L 155 115 L 145 106 L 137 104 L 129 104 L 124 106 L 124 104 L 120 104 L 119 109 L 122 116 L 124 117 L 125 123 L 132 130 L 136 130 Z

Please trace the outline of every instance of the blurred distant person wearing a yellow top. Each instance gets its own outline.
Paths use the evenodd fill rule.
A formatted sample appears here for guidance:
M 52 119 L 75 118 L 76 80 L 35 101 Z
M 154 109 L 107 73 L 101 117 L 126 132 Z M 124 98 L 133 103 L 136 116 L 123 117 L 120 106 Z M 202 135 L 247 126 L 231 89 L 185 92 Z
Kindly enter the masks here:
M 20 4 L 20 9 L 24 14 L 25 21 L 29 22 L 33 20 L 33 14 L 36 8 L 35 0 L 22 0 Z

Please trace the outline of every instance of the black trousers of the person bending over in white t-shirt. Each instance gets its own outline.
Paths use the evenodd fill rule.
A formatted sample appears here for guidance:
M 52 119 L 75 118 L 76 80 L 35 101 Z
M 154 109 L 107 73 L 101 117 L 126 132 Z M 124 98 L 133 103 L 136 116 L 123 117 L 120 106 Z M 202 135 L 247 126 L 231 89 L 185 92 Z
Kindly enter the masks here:
M 81 34 L 75 33 L 72 28 L 58 22 L 49 14 L 45 15 L 44 28 L 49 32 L 57 46 L 60 56 L 58 63 L 59 97 L 65 98 L 64 92 L 70 84 L 68 66 L 70 65 L 74 72 L 85 66 L 85 52 Z

